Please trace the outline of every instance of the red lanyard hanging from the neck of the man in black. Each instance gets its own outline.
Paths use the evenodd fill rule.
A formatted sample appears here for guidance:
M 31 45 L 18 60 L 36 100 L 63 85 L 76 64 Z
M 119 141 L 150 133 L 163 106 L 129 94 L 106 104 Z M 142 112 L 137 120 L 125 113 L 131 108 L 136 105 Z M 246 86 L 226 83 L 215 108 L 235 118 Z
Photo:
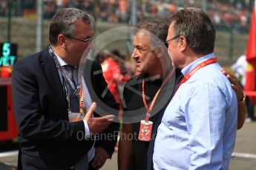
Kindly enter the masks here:
M 143 79 L 142 81 L 142 98 L 143 98 L 143 103 L 145 105 L 145 108 L 147 109 L 147 115 L 145 116 L 145 120 L 148 121 L 149 118 L 151 117 L 151 111 L 154 107 L 154 104 L 157 101 L 157 97 L 160 94 L 161 89 L 163 88 L 163 86 L 168 82 L 168 80 L 171 78 L 171 75 L 173 75 L 175 69 L 172 69 L 171 72 L 169 72 L 169 74 L 167 75 L 167 77 L 165 78 L 165 81 L 163 82 L 162 86 L 160 87 L 160 89 L 158 89 L 156 95 L 154 95 L 154 98 L 151 102 L 151 105 L 148 108 L 148 103 L 145 101 L 145 81 Z

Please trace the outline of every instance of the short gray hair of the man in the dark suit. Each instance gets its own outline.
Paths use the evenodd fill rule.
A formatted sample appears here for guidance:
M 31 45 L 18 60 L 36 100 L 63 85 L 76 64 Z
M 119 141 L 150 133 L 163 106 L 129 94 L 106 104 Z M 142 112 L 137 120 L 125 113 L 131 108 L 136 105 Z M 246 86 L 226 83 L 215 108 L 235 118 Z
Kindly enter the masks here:
M 76 27 L 74 23 L 78 20 L 86 24 L 93 24 L 93 17 L 76 8 L 63 8 L 59 10 L 50 22 L 49 41 L 50 44 L 57 44 L 59 34 L 73 37 Z

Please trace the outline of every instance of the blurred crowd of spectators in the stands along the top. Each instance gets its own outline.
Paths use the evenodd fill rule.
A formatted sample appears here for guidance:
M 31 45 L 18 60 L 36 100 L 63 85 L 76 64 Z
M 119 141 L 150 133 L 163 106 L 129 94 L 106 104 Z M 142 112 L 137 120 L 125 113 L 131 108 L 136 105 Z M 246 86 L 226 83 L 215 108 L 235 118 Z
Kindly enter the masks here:
M 45 18 L 51 18 L 55 11 L 61 7 L 76 7 L 85 10 L 99 21 L 128 23 L 131 16 L 131 1 L 129 0 L 44 0 Z M 144 18 L 162 18 L 168 21 L 170 14 L 181 7 L 203 7 L 203 1 L 137 1 L 137 19 L 141 21 Z M 236 3 L 207 1 L 205 7 L 217 29 L 223 30 L 232 27 L 239 33 L 248 32 L 250 17 L 248 4 L 243 4 L 240 1 Z M 26 13 L 26 10 L 35 11 L 35 1 L 13 0 L 13 15 L 23 15 Z M 0 16 L 7 15 L 7 1 L 0 0 Z

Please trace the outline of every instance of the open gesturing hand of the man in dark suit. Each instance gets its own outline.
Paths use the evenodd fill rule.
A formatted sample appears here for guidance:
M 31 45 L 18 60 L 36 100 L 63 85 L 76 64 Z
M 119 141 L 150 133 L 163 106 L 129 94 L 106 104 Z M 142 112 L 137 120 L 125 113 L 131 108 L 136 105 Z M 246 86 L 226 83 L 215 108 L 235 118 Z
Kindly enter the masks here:
M 91 135 L 98 134 L 106 129 L 114 120 L 114 115 L 106 115 L 99 118 L 93 118 L 93 112 L 95 111 L 96 103 L 91 104 L 90 109 L 85 115 L 85 121 L 88 123 Z

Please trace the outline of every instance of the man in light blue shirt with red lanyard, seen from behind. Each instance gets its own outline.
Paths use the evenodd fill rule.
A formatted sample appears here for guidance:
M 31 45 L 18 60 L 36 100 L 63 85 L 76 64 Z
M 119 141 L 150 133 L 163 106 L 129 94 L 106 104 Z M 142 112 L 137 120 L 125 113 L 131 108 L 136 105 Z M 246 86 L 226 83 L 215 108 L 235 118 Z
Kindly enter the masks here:
M 214 57 L 215 30 L 196 8 L 171 16 L 168 53 L 184 78 L 165 109 L 154 144 L 154 169 L 229 169 L 237 97 Z

